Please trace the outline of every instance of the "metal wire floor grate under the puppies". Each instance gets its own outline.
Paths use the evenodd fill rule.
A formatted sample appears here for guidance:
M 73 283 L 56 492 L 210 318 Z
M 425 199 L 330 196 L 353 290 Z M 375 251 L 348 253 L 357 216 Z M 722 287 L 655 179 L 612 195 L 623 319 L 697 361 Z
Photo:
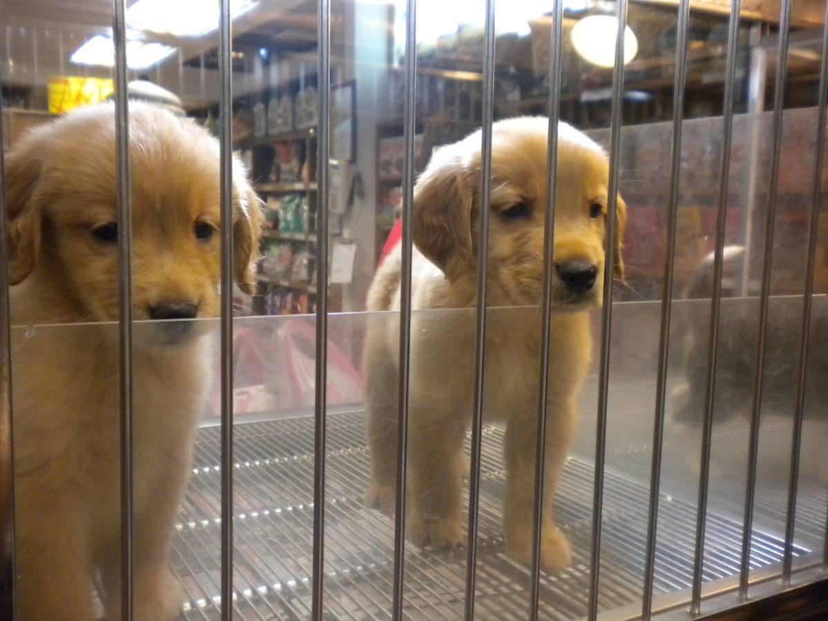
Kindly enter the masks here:
M 500 501 L 503 432 L 484 432 L 480 500 L 477 616 L 526 619 L 528 571 L 503 555 Z M 313 419 L 243 423 L 235 436 L 235 616 L 306 619 L 310 615 L 313 528 Z M 331 415 L 328 423 L 325 603 L 329 619 L 388 619 L 392 597 L 393 523 L 364 509 L 368 454 L 363 413 Z M 643 456 L 648 460 L 648 455 Z M 572 457 L 557 495 L 556 514 L 575 553 L 569 570 L 542 576 L 545 619 L 578 619 L 588 604 L 592 466 Z M 194 475 L 177 525 L 173 566 L 185 587 L 185 619 L 218 619 L 219 430 L 201 429 Z M 691 585 L 695 506 L 664 494 L 659 520 L 655 589 Z M 604 497 L 600 609 L 640 600 L 647 524 L 647 487 L 608 471 Z M 739 567 L 740 524 L 710 514 L 705 580 Z M 795 547 L 797 556 L 806 547 Z M 753 567 L 782 557 L 782 540 L 755 533 Z M 465 552 L 439 555 L 407 547 L 409 619 L 462 616 Z

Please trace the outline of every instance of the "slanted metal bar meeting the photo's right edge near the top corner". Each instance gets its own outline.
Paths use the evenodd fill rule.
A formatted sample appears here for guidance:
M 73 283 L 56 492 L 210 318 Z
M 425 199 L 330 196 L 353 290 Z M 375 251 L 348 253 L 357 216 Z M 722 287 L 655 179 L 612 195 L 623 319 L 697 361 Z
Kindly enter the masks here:
M 786 5 L 787 6 L 787 5 Z M 788 9 L 790 13 L 790 8 Z M 788 15 L 790 18 L 790 15 Z M 826 4 L 828 17 L 828 4 Z M 828 24 L 828 21 L 823 21 Z M 787 29 L 786 29 L 787 31 Z M 785 57 L 787 59 L 787 38 Z M 782 56 L 782 50 L 779 50 Z M 797 406 L 794 411 L 793 439 L 791 447 L 791 480 L 787 491 L 787 515 L 785 518 L 785 552 L 782 557 L 782 583 L 791 584 L 791 565 L 793 556 L 793 530 L 797 518 L 797 487 L 799 485 L 799 453 L 802 442 L 802 417 L 805 413 L 805 389 L 808 363 L 808 336 L 811 333 L 811 298 L 814 294 L 814 272 L 816 270 L 816 242 L 819 236 L 820 199 L 822 185 L 822 164 L 825 159 L 826 130 L 826 88 L 828 88 L 828 28 L 822 29 L 822 61 L 819 99 L 816 102 L 818 119 L 816 122 L 816 153 L 814 154 L 814 187 L 811 190 L 811 213 L 808 222 L 808 255 L 805 269 L 805 297 L 802 299 L 802 333 L 799 343 L 799 375 L 797 376 Z M 777 69 L 778 70 L 778 69 Z M 777 89 L 779 84 L 777 84 Z M 776 112 L 776 110 L 774 110 Z M 781 116 L 781 115 L 780 115 Z M 780 118 L 780 125 L 781 125 Z

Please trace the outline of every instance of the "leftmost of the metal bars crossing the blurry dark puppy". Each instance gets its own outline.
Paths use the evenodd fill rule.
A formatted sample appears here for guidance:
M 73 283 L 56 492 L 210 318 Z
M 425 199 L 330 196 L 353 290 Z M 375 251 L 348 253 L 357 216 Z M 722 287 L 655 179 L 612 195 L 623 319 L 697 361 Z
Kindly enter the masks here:
M 696 505 L 696 547 L 693 553 L 693 586 L 691 610 L 698 614 L 701 604 L 701 578 L 705 555 L 705 525 L 707 521 L 707 488 L 710 484 L 710 441 L 713 429 L 713 398 L 715 394 L 716 349 L 719 345 L 719 314 L 724 255 L 724 229 L 727 223 L 727 197 L 730 180 L 730 143 L 733 137 L 733 97 L 736 76 L 736 45 L 739 38 L 741 0 L 730 3 L 727 41 L 727 67 L 724 74 L 724 107 L 722 111 L 722 151 L 719 194 L 717 197 L 715 254 L 713 260 L 713 291 L 710 296 L 710 339 L 707 351 L 707 378 L 705 412 L 702 422 L 701 466 L 699 494 Z

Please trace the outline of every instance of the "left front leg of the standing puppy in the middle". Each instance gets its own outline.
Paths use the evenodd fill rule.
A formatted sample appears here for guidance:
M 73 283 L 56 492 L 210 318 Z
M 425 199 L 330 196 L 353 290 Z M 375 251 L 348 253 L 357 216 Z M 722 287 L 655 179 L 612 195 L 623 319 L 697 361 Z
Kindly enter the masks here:
M 421 547 L 445 549 L 465 541 L 463 453 L 465 422 L 412 412 L 409 432 L 408 537 Z

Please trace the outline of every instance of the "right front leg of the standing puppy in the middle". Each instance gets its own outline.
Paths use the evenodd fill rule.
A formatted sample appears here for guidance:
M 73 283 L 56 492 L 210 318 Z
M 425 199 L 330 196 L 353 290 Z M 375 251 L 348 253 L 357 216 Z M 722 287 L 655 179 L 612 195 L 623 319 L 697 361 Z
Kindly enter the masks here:
M 561 571 L 570 565 L 572 552 L 566 535 L 552 519 L 555 495 L 570 440 L 575 430 L 575 408 L 549 409 L 546 423 L 546 471 L 542 509 L 541 564 L 546 571 Z M 508 555 L 516 561 L 532 562 L 535 512 L 535 447 L 537 422 L 532 417 L 508 423 L 504 454 L 508 479 L 503 506 L 503 530 Z

